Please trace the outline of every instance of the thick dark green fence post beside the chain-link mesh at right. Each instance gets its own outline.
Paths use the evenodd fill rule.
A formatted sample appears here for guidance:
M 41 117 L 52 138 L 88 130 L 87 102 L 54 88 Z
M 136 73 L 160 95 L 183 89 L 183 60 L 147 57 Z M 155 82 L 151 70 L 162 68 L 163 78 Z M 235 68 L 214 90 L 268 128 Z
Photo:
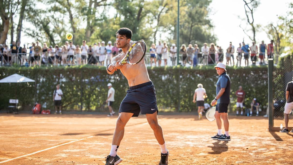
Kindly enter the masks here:
M 274 107 L 273 107 L 273 67 L 274 60 L 268 59 L 268 108 L 269 108 L 269 131 L 274 127 Z

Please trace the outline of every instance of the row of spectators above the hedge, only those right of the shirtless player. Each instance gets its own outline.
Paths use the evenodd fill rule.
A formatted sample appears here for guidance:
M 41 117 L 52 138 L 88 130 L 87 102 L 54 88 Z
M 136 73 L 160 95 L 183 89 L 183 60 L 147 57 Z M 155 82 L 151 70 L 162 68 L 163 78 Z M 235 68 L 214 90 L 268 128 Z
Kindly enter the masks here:
M 209 64 L 217 64 L 219 62 L 223 62 L 224 57 L 226 58 L 226 65 L 229 66 L 241 66 L 241 60 L 245 60 L 245 66 L 248 66 L 248 60 L 252 62 L 252 65 L 256 64 L 258 58 L 260 59 L 260 65 L 264 65 L 265 53 L 267 52 L 267 58 L 273 58 L 274 47 L 273 40 L 268 44 L 268 46 L 261 42 L 261 44 L 256 46 L 255 41 L 252 41 L 252 46 L 245 44 L 244 41 L 239 43 L 239 47 L 235 49 L 232 45 L 232 42 L 229 43 L 228 48 L 226 49 L 226 54 L 224 54 L 224 49 L 221 46 L 215 46 L 214 43 L 210 43 L 209 46 L 207 43 L 204 43 L 202 47 L 199 47 L 197 44 L 189 44 L 188 47 L 185 44 L 182 44 L 179 53 L 182 56 L 182 64 L 186 65 L 189 63 L 192 66 L 196 66 L 197 64 L 209 65 Z M 168 55 L 168 51 L 170 52 Z M 161 41 L 155 46 L 153 43 L 150 48 L 151 60 L 150 64 L 158 61 L 158 65 L 161 66 L 161 60 L 164 60 L 164 64 L 167 64 L 167 59 L 171 58 L 172 65 L 175 65 L 175 61 L 177 58 L 177 47 L 176 44 L 172 44 L 170 48 L 168 48 L 167 43 Z M 237 54 L 236 54 L 237 53 Z M 234 58 L 235 57 L 235 58 Z M 236 61 L 236 62 L 235 62 Z

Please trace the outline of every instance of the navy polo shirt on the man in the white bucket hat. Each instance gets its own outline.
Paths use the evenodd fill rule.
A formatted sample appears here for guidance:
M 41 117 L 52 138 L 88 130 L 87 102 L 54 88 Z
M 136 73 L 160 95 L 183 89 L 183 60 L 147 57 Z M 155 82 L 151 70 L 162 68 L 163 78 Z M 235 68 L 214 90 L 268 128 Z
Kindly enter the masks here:
M 219 76 L 217 81 L 216 95 L 220 92 L 221 88 L 225 88 L 225 92 L 218 99 L 217 104 L 229 104 L 230 103 L 230 78 L 226 72 Z

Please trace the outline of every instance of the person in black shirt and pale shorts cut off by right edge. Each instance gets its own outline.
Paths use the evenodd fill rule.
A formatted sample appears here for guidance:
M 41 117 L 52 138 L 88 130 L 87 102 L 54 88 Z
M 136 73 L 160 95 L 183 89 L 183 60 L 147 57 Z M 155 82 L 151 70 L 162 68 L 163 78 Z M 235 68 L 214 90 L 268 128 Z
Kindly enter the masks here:
M 293 78 L 292 78 L 293 79 Z M 285 118 L 285 128 L 280 132 L 288 133 L 288 122 L 289 122 L 289 114 L 293 108 L 293 81 L 290 81 L 286 87 L 286 104 L 284 107 L 284 118 Z M 293 132 L 293 129 L 290 131 Z

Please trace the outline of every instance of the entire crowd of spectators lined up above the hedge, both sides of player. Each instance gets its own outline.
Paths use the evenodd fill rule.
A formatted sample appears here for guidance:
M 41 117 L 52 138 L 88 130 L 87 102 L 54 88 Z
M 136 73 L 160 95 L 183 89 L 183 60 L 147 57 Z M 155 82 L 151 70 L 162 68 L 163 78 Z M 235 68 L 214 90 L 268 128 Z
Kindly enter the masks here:
M 221 46 L 215 46 L 214 43 L 204 43 L 202 47 L 197 44 L 189 44 L 186 46 L 182 44 L 179 48 L 180 62 L 183 66 L 186 64 L 196 66 L 198 64 L 209 65 L 223 62 L 226 58 L 227 66 L 241 66 L 241 60 L 245 60 L 245 66 L 249 64 L 249 57 L 252 65 L 256 64 L 258 58 L 259 64 L 264 65 L 267 54 L 267 58 L 273 58 L 273 40 L 266 45 L 264 41 L 259 44 L 259 47 L 252 41 L 252 45 L 249 46 L 244 42 L 239 43 L 239 47 L 235 48 L 232 43 L 229 43 L 228 48 L 225 50 Z M 74 45 L 72 41 L 66 41 L 64 45 L 47 46 L 46 43 L 41 44 L 39 41 L 32 43 L 31 46 L 21 47 L 20 43 L 13 42 L 10 47 L 6 44 L 0 44 L 0 64 L 11 65 L 18 63 L 26 66 L 50 64 L 50 65 L 83 65 L 91 64 L 104 66 L 110 63 L 111 58 L 121 53 L 121 49 L 117 48 L 116 43 L 112 45 L 111 41 L 108 41 L 107 45 L 105 41 L 87 45 L 83 40 L 81 45 Z M 237 53 L 237 54 L 236 54 Z M 173 43 L 169 48 L 167 42 L 158 44 L 151 44 L 147 55 L 150 55 L 150 65 L 153 63 L 155 66 L 161 66 L 163 60 L 163 66 L 177 65 L 177 47 Z M 235 58 L 234 58 L 235 57 Z M 170 59 L 170 60 L 168 60 Z M 172 64 L 171 64 L 172 63 Z

